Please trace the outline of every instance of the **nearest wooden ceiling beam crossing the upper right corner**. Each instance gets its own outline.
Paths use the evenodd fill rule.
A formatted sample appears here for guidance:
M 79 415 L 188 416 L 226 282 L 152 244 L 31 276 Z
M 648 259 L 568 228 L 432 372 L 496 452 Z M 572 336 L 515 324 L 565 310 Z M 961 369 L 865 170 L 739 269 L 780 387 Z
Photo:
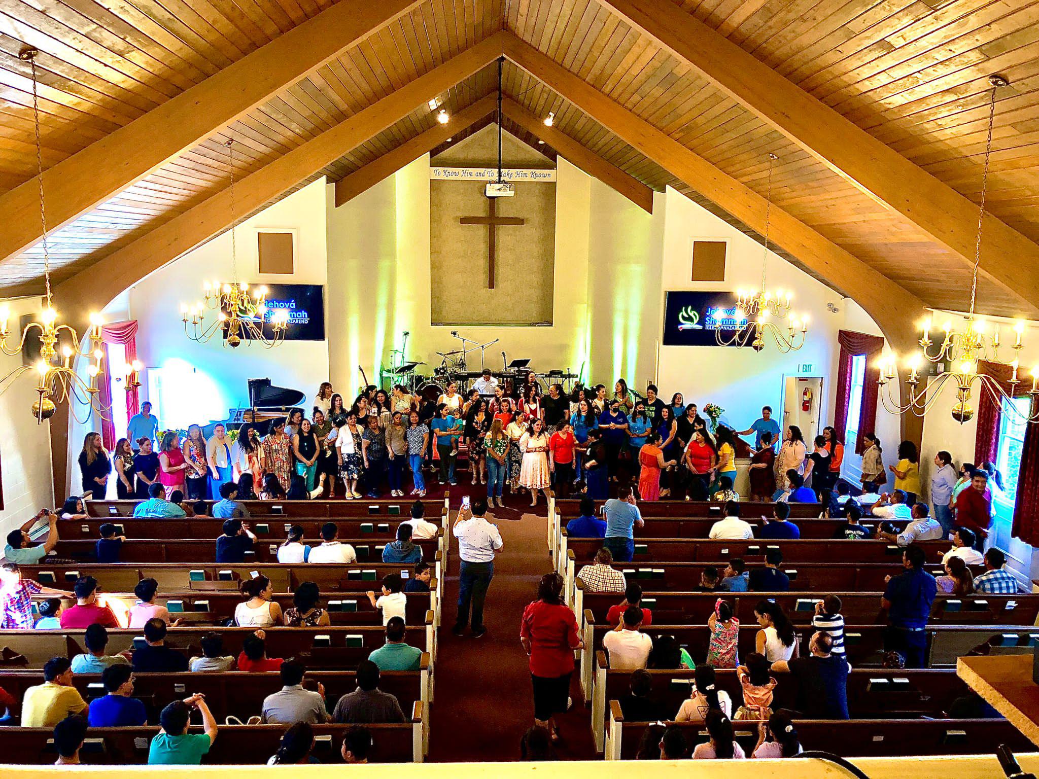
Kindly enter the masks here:
M 974 266 L 978 206 L 671 0 L 598 0 L 801 149 Z M 986 84 L 987 87 L 987 84 Z M 923 269 L 922 269 L 923 270 Z M 1032 315 L 1039 245 L 985 215 L 979 270 Z

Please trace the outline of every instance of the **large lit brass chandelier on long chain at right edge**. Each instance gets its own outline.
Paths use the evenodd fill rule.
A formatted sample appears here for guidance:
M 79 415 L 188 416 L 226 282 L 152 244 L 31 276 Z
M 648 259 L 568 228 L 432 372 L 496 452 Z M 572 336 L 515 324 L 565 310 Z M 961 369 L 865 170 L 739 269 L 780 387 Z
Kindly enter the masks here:
M 985 141 L 985 165 L 982 173 L 981 205 L 978 209 L 978 234 L 975 241 L 975 262 L 974 275 L 970 281 L 970 307 L 964 317 L 964 324 L 960 328 L 953 325 L 951 318 L 947 318 L 941 325 L 941 343 L 937 350 L 932 352 L 931 347 L 935 342 L 931 340 L 931 331 L 934 326 L 932 318 L 927 318 L 920 327 L 922 335 L 920 338 L 921 351 L 909 358 L 908 402 L 902 404 L 894 397 L 890 391 L 885 392 L 884 387 L 893 379 L 898 377 L 896 358 L 894 354 L 885 354 L 881 359 L 880 397 L 884 408 L 890 413 L 913 413 L 923 417 L 932 408 L 941 394 L 940 390 L 947 382 L 956 384 L 956 402 L 951 409 L 953 419 L 963 424 L 975 414 L 975 408 L 970 404 L 971 391 L 978 385 L 980 393 L 988 393 L 989 397 L 1001 406 L 1003 400 L 1012 399 L 1018 395 L 1017 387 L 1021 383 L 1018 378 L 1019 355 L 1023 348 L 1021 334 L 1024 331 L 1024 323 L 1020 320 L 1014 322 L 1013 342 L 1007 347 L 1001 343 L 1000 327 L 992 324 L 992 331 L 989 334 L 988 323 L 984 319 L 979 319 L 975 315 L 975 301 L 978 294 L 978 265 L 981 260 L 981 239 L 982 226 L 985 219 L 985 196 L 988 192 L 988 169 L 989 158 L 992 154 L 992 128 L 995 120 L 995 92 L 1001 86 L 1007 86 L 1010 82 L 1003 76 L 989 76 L 988 83 L 992 86 L 989 97 L 988 108 L 988 136 Z M 1009 348 L 1009 354 L 1007 349 Z M 1002 349 L 1002 351 L 1001 351 Z M 1009 357 L 1009 358 L 1008 358 Z M 935 376 L 928 385 L 920 390 L 920 370 L 925 360 L 931 364 L 947 364 L 948 370 Z M 1010 369 L 1010 392 L 1008 393 L 1003 384 L 992 376 L 978 372 L 978 362 L 985 360 Z M 1032 388 L 1027 391 L 1027 395 L 1033 401 L 1029 404 L 1029 412 L 1022 413 L 1016 405 L 1009 404 L 1011 411 L 1027 422 L 1039 422 L 1039 411 L 1033 412 L 1036 406 L 1034 402 L 1039 396 L 1037 392 L 1037 379 L 1039 379 L 1039 366 L 1032 369 Z

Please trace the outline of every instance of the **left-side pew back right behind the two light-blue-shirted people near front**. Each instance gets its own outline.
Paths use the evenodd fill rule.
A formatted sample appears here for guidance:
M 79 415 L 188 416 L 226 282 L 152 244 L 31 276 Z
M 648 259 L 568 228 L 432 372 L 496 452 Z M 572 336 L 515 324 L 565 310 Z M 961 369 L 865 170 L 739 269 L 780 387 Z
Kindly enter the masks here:
M 344 538 L 364 538 L 366 543 L 378 539 L 379 542 L 392 541 L 397 538 L 397 526 L 408 518 L 405 512 L 401 516 L 348 516 L 337 517 L 336 525 Z M 445 526 L 445 515 L 436 514 L 426 517 L 427 521 L 441 527 Z M 321 526 L 330 519 L 297 519 L 284 516 L 263 516 L 246 520 L 249 529 L 259 541 L 282 543 L 286 533 L 293 525 L 303 529 L 305 543 L 315 546 L 321 543 Z M 152 519 L 128 516 L 62 519 L 58 522 L 61 540 L 101 538 L 101 526 L 111 522 L 119 535 L 129 538 L 210 538 L 215 539 L 223 530 L 223 519 Z

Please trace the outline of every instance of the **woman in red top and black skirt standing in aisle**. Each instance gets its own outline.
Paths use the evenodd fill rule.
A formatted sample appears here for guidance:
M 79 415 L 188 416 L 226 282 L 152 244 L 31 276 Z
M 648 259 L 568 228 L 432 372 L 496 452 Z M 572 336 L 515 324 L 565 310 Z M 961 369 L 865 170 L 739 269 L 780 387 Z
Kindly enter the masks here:
M 528 606 L 520 623 L 520 643 L 530 657 L 534 687 L 534 724 L 559 742 L 555 715 L 569 707 L 574 650 L 582 647 L 574 611 L 563 603 L 563 577 L 545 573 L 537 586 L 537 600 Z

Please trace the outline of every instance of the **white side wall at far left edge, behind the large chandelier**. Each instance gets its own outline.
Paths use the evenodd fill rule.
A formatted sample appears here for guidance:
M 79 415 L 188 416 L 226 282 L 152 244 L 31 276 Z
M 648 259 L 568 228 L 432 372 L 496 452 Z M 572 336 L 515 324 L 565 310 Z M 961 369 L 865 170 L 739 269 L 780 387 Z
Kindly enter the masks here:
M 12 300 L 8 327 L 12 338 L 18 338 L 19 317 L 36 314 L 38 299 Z M 60 314 L 60 312 L 59 312 Z M 6 376 L 23 365 L 21 353 L 8 356 L 0 353 L 0 376 Z M 0 532 L 7 532 L 22 525 L 39 509 L 55 504 L 51 488 L 51 428 L 37 425 L 31 406 L 36 400 L 35 371 L 12 380 L 0 395 L 0 479 L 3 481 L 3 509 L 0 509 Z M 60 500 L 60 499 L 59 499 Z

